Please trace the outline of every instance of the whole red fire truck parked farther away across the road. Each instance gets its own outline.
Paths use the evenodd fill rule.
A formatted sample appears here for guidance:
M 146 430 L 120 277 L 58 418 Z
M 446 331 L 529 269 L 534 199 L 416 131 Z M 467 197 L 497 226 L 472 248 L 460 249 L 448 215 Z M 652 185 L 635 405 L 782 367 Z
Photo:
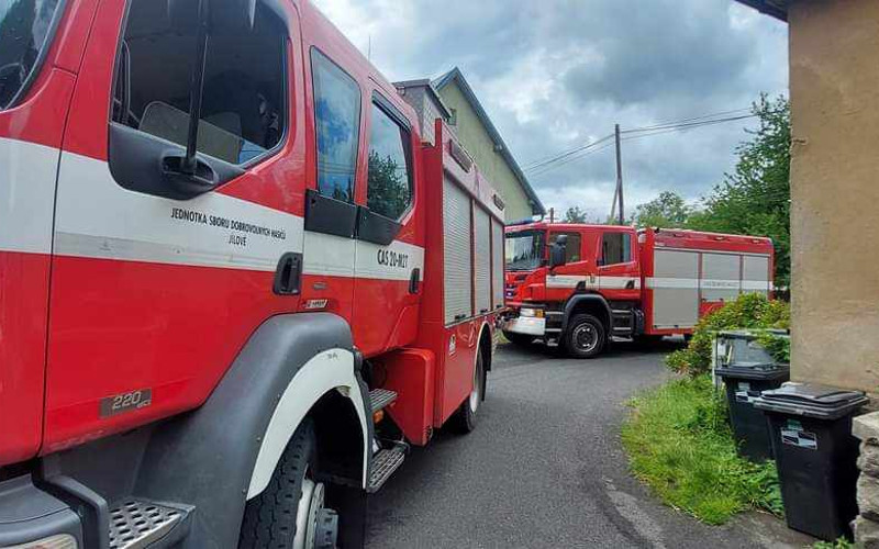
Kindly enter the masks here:
M 689 335 L 743 292 L 772 287 L 769 238 L 567 223 L 507 227 L 503 334 L 574 357 L 609 343 Z

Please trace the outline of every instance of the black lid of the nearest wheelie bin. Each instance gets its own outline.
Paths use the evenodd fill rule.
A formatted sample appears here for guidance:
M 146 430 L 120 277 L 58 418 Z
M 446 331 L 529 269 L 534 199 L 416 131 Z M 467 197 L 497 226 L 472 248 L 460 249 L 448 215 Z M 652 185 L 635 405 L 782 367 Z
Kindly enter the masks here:
M 867 402 L 869 399 L 861 391 L 789 381 L 778 389 L 764 391 L 754 405 L 767 412 L 836 419 Z

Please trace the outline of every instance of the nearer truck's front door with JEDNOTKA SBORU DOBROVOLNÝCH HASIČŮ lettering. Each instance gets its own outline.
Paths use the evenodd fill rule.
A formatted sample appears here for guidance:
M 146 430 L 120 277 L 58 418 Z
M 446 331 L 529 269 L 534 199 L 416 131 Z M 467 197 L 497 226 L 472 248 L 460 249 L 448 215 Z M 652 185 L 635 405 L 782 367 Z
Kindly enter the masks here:
M 299 304 L 285 262 L 303 239 L 296 9 L 258 1 L 253 29 L 212 25 L 201 57 L 196 14 L 169 5 L 103 2 L 82 54 L 58 176 L 48 451 L 200 405 L 257 326 Z M 201 63 L 196 179 L 177 166 Z

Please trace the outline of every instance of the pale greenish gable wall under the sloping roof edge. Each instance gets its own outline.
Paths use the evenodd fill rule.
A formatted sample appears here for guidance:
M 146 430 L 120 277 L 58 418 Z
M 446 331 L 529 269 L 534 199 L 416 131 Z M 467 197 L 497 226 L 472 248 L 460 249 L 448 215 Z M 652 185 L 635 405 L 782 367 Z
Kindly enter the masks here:
M 504 220 L 511 222 L 531 219 L 532 208 L 527 194 L 503 156 L 494 150 L 494 142 L 458 85 L 454 81 L 448 83 L 439 90 L 439 96 L 446 107 L 457 113 L 453 127 L 461 144 L 503 199 Z

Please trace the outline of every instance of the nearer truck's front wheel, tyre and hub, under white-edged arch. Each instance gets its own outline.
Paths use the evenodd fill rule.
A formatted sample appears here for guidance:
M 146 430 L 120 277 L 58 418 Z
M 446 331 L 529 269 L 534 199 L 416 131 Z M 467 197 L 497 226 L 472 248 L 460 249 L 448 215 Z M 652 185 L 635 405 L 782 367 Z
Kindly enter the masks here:
M 271 480 L 247 502 L 238 547 L 335 548 L 338 517 L 323 506 L 324 484 L 313 480 L 316 438 L 311 421 L 293 434 Z

